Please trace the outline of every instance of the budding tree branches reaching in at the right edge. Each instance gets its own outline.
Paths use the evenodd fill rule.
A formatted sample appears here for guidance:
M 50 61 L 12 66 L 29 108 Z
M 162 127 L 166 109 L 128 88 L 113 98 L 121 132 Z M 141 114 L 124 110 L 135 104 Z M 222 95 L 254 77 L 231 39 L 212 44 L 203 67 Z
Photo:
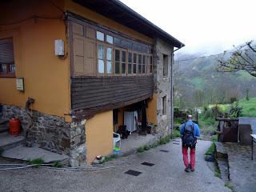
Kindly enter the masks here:
M 242 46 L 234 46 L 231 53 L 224 51 L 223 57 L 218 59 L 218 71 L 236 72 L 238 70 L 246 70 L 256 77 L 256 46 L 253 41 L 246 42 Z

